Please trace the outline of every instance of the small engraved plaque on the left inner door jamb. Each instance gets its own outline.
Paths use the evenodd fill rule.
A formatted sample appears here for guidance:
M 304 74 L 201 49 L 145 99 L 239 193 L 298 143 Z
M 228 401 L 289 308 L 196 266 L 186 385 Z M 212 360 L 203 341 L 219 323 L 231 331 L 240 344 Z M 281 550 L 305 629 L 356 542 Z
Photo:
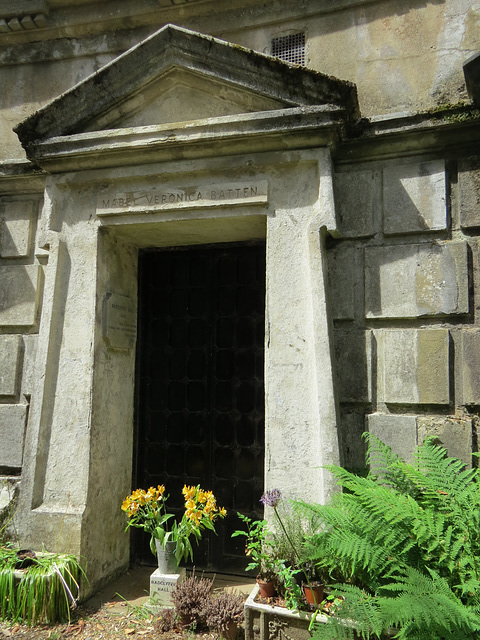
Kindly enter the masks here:
M 107 293 L 103 300 L 103 339 L 112 349 L 132 349 L 137 337 L 137 312 L 132 298 Z

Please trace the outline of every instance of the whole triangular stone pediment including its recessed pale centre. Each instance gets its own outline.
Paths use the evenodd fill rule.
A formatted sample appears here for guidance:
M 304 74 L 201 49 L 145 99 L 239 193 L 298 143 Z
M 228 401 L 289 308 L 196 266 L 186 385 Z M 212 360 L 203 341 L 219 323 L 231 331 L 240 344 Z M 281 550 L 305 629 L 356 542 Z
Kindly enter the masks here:
M 355 86 L 173 25 L 132 47 L 19 124 L 23 146 L 78 133 L 289 107 L 358 115 Z

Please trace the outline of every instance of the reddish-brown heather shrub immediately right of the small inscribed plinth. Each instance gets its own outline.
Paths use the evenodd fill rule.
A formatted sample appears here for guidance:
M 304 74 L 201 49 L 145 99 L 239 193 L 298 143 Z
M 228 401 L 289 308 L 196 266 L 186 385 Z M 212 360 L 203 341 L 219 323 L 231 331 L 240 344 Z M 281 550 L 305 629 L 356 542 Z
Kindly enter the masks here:
M 201 629 L 206 626 L 206 610 L 213 587 L 213 579 L 197 578 L 193 573 L 176 585 L 172 593 L 175 611 L 184 625 Z

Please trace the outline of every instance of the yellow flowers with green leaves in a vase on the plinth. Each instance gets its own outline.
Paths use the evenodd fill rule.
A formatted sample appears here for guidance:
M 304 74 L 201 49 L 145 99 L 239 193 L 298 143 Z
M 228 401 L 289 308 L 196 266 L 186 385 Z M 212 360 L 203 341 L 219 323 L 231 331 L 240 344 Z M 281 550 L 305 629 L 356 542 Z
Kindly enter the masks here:
M 185 512 L 180 522 L 167 512 L 169 496 L 165 494 L 163 484 L 150 487 L 148 491 L 136 489 L 122 503 L 122 510 L 129 518 L 125 531 L 137 527 L 150 534 L 150 549 L 154 555 L 157 553 L 162 573 L 174 573 L 182 559 L 190 557 L 193 560 L 191 538 L 198 544 L 202 532 L 205 529 L 215 531 L 215 520 L 226 515 L 225 509 L 217 506 L 211 491 L 204 491 L 199 485 L 185 485 L 182 493 Z

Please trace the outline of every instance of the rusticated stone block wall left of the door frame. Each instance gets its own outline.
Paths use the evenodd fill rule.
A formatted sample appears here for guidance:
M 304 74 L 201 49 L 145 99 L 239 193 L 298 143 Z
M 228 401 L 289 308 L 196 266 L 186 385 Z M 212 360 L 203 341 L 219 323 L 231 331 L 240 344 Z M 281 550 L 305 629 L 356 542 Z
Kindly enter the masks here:
M 42 292 L 34 256 L 39 199 L 0 197 L 0 474 L 19 474 Z

